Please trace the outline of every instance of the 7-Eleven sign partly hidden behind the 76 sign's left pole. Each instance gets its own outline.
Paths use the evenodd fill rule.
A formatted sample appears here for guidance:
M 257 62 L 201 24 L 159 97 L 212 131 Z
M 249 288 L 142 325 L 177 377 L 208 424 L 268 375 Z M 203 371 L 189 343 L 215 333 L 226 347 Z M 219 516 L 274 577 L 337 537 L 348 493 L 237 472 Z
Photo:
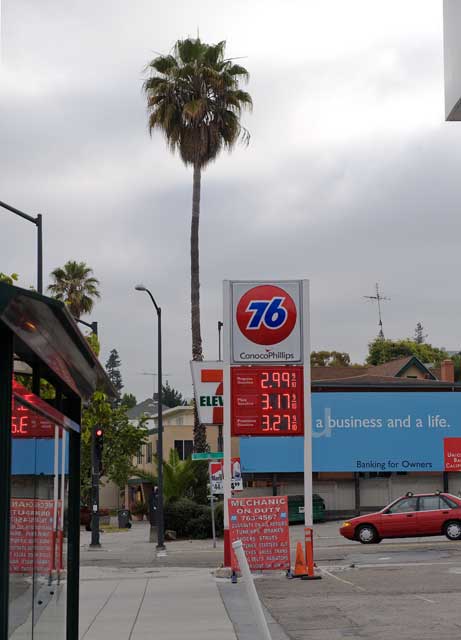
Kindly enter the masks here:
M 190 363 L 194 396 L 201 424 L 223 423 L 223 369 L 222 362 Z

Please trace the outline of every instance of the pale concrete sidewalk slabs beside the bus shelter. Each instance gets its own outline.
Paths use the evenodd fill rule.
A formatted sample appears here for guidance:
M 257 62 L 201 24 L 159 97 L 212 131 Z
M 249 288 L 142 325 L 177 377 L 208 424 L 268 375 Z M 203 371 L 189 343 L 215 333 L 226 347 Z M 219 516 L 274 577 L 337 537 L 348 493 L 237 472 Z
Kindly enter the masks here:
M 207 569 L 83 567 L 81 640 L 235 640 Z

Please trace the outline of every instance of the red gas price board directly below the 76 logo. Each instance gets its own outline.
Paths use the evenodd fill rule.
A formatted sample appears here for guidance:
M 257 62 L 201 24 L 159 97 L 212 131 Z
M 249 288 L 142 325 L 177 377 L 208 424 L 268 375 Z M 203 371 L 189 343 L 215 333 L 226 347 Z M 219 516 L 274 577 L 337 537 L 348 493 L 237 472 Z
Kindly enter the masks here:
M 304 435 L 302 367 L 232 367 L 233 436 Z

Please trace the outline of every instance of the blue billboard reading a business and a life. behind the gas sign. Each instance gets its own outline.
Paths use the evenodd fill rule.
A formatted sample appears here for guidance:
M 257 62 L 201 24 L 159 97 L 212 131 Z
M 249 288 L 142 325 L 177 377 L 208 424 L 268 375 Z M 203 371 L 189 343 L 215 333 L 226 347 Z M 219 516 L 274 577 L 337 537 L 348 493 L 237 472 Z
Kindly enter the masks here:
M 443 471 L 461 393 L 313 393 L 314 471 Z M 302 437 L 241 437 L 244 473 L 303 471 Z

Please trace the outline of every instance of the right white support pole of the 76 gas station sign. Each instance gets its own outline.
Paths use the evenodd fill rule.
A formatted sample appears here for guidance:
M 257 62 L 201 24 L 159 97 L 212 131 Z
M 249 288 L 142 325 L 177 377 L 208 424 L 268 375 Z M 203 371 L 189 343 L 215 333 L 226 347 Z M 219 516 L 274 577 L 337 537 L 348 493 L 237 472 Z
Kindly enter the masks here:
M 304 526 L 312 527 L 312 406 L 309 280 L 303 280 L 304 351 Z

